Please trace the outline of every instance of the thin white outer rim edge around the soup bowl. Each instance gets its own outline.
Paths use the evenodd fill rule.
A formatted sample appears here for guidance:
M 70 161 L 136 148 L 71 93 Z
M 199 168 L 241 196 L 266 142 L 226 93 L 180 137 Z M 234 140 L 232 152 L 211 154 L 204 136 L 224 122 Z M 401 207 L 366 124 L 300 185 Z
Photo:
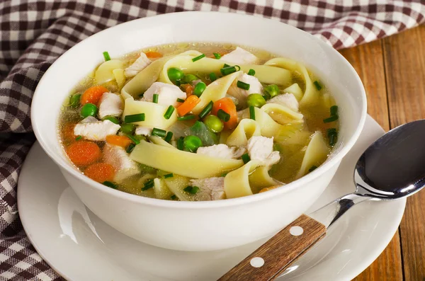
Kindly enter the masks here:
M 217 14 L 217 16 L 232 16 L 232 18 L 241 18 L 242 20 L 246 20 L 247 18 L 249 21 L 259 21 L 259 22 L 267 22 L 268 24 L 275 24 L 275 25 L 286 25 L 286 28 L 292 28 L 294 30 L 297 30 L 299 33 L 304 33 L 305 35 L 312 38 L 312 40 L 315 40 L 321 47 L 326 48 L 327 50 L 331 50 L 331 52 L 334 52 L 336 57 L 339 57 L 341 59 L 341 62 L 344 63 L 344 65 L 351 71 L 351 74 L 353 76 L 353 79 L 356 79 L 357 84 L 360 85 L 361 93 L 358 93 L 358 95 L 361 97 L 362 101 L 362 108 L 361 108 L 361 116 L 360 120 L 358 122 L 358 125 L 356 127 L 356 130 L 353 132 L 353 135 L 350 139 L 348 139 L 347 142 L 345 142 L 341 149 L 336 152 L 329 161 L 326 161 L 324 164 L 319 166 L 317 169 L 312 171 L 311 173 L 308 173 L 305 176 L 302 176 L 301 178 L 294 180 L 291 183 L 288 183 L 284 185 L 284 188 L 276 188 L 273 190 L 269 190 L 266 193 L 257 193 L 249 196 L 244 197 L 237 197 L 237 198 L 229 198 L 226 200 L 211 200 L 211 201 L 196 201 L 196 202 L 186 202 L 186 201 L 171 201 L 171 200 L 159 200 L 157 198 L 150 198 L 150 197 L 143 197 L 140 195 L 134 195 L 131 193 L 125 193 L 120 190 L 115 190 L 113 188 L 108 188 L 106 185 L 103 185 L 101 183 L 97 183 L 94 180 L 91 180 L 90 178 L 84 176 L 83 173 L 77 171 L 75 168 L 72 168 L 72 164 L 65 163 L 64 159 L 62 159 L 60 156 L 57 155 L 57 151 L 54 149 L 50 149 L 50 147 L 45 144 L 44 139 L 42 137 L 43 133 L 42 130 L 40 130 L 40 127 L 38 127 L 38 124 L 35 122 L 35 116 L 37 115 L 38 108 L 42 105 L 40 101 L 42 101 L 39 96 L 42 96 L 42 93 L 40 93 L 39 89 L 42 85 L 47 83 L 47 79 L 49 79 L 50 72 L 55 70 L 55 66 L 57 64 L 60 64 L 62 60 L 67 58 L 69 56 L 69 53 L 71 50 L 73 50 L 75 47 L 81 45 L 81 44 L 87 44 L 87 42 L 91 42 L 93 40 L 96 40 L 96 38 L 103 33 L 111 32 L 111 30 L 117 29 L 117 28 L 123 28 L 123 25 L 134 25 L 135 23 L 145 23 L 149 22 L 152 18 L 172 18 L 172 17 L 179 17 L 179 16 L 187 16 L 188 14 Z M 229 206 L 235 206 L 235 205 L 243 205 L 253 202 L 258 202 L 261 200 L 267 200 L 271 197 L 278 197 L 278 195 L 282 193 L 290 192 L 290 190 L 293 190 L 295 188 L 300 188 L 300 186 L 305 185 L 306 183 L 312 182 L 315 178 L 318 178 L 322 175 L 322 173 L 328 171 L 332 166 L 336 165 L 343 159 L 343 157 L 350 151 L 350 149 L 353 147 L 353 145 L 356 143 L 358 137 L 361 134 L 361 131 L 363 130 L 363 125 L 365 124 L 365 119 L 367 115 L 367 98 L 365 94 L 365 89 L 363 86 L 363 83 L 361 82 L 360 77 L 358 76 L 356 70 L 351 66 L 351 64 L 345 59 L 344 56 L 342 56 L 338 51 L 334 50 L 333 47 L 328 45 L 326 42 L 319 40 L 319 38 L 314 37 L 314 35 L 311 35 L 310 33 L 305 32 L 304 30 L 300 30 L 299 28 L 295 28 L 292 25 L 288 25 L 286 23 L 281 23 L 280 21 L 276 21 L 270 18 L 260 18 L 257 16 L 251 16 L 246 14 L 239 14 L 239 13 L 225 13 L 225 12 L 217 12 L 217 11 L 185 11 L 185 12 L 176 12 L 176 13 L 165 13 L 162 15 L 157 16 L 148 16 L 145 18 L 137 18 L 132 21 L 127 21 L 125 23 L 120 23 L 118 25 L 115 25 L 111 28 L 106 28 L 105 30 L 102 30 L 98 33 L 95 33 L 94 35 L 89 36 L 88 38 L 85 38 L 84 40 L 81 40 L 81 42 L 78 42 L 76 45 L 71 47 L 69 50 L 64 52 L 60 57 L 58 57 L 55 62 L 45 71 L 45 74 L 40 79 L 38 86 L 35 88 L 35 92 L 33 94 L 33 101 L 31 103 L 31 122 L 33 125 L 33 130 L 35 133 L 35 137 L 38 139 L 38 142 L 40 143 L 42 149 L 47 153 L 48 156 L 50 156 L 50 159 L 55 161 L 55 163 L 60 166 L 60 168 L 67 171 L 67 173 L 70 173 L 72 176 L 78 178 L 79 180 L 82 180 L 87 185 L 90 185 L 91 188 L 96 188 L 101 193 L 107 193 L 114 197 L 120 197 L 120 199 L 128 200 L 130 202 L 140 203 L 144 205 L 152 205 L 156 207 L 166 207 L 166 208 L 179 208 L 179 209 L 208 209 L 208 208 L 217 208 L 217 207 L 229 207 Z

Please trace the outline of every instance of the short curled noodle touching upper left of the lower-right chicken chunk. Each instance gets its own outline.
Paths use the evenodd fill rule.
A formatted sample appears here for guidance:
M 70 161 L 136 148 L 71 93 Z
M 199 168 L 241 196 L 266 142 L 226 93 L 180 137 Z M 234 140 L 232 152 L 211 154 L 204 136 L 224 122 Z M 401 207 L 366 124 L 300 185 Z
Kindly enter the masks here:
M 236 129 L 227 137 L 229 147 L 244 147 L 252 136 L 260 136 L 261 129 L 255 120 L 242 119 Z

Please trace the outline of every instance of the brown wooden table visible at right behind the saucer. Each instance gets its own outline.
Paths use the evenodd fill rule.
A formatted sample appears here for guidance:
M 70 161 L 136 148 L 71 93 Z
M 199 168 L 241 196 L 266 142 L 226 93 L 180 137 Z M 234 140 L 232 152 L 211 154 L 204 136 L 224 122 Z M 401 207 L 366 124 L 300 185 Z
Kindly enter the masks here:
M 425 25 L 341 54 L 363 81 L 368 113 L 385 130 L 425 118 Z M 392 241 L 354 280 L 425 280 L 425 191 L 407 199 Z

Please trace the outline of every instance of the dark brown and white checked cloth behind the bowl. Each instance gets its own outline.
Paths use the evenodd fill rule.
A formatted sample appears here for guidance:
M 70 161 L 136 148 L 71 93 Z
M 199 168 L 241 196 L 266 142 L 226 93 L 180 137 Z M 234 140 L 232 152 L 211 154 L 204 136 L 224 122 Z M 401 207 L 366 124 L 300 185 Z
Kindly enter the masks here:
M 0 280 L 63 280 L 31 246 L 16 205 L 19 171 L 35 140 L 30 124 L 31 97 L 42 74 L 70 47 L 100 30 L 135 18 L 179 11 L 273 18 L 302 28 L 336 49 L 425 22 L 424 0 L 1 1 Z

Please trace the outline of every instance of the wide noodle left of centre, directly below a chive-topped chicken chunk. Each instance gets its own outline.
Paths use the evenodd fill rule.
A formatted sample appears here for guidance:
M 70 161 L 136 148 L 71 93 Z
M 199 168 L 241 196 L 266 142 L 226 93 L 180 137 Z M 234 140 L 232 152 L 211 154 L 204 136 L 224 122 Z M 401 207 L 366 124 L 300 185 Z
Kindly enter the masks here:
M 123 120 L 125 116 L 132 114 L 145 113 L 145 121 L 134 122 L 132 124 L 145 127 L 157 127 L 159 129 L 167 129 L 177 121 L 177 113 L 174 110 L 171 117 L 167 120 L 164 118 L 168 106 L 157 103 L 149 103 L 147 101 L 134 101 L 132 98 L 125 100 Z

